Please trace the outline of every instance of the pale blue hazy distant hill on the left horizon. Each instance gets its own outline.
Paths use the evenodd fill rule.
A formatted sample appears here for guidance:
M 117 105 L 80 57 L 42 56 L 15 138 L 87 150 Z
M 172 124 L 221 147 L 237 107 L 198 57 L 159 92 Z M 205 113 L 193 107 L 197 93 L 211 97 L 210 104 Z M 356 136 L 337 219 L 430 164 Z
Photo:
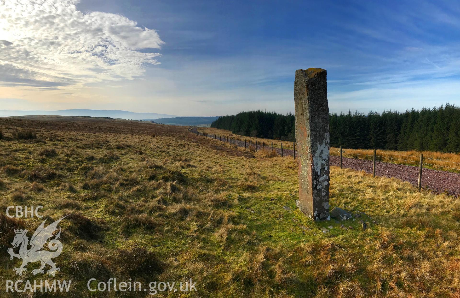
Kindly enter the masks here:
M 86 110 L 86 109 L 71 109 L 71 110 L 58 110 L 58 111 L 0 110 L 0 117 L 29 116 L 29 115 L 89 116 L 89 117 L 111 117 L 111 118 L 121 118 L 121 119 L 143 119 L 143 118 L 158 119 L 158 118 L 166 118 L 166 117 L 180 117 L 180 116 L 168 115 L 168 114 L 137 113 L 137 112 L 121 111 L 121 110 Z

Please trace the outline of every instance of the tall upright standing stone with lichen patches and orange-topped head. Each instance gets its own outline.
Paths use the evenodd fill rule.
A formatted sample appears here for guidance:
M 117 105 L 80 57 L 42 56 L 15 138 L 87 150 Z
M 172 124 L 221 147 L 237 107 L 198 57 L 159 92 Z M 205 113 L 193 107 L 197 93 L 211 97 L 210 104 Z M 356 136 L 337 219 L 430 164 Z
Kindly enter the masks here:
M 296 70 L 295 136 L 299 154 L 299 208 L 329 220 L 329 106 L 326 70 Z

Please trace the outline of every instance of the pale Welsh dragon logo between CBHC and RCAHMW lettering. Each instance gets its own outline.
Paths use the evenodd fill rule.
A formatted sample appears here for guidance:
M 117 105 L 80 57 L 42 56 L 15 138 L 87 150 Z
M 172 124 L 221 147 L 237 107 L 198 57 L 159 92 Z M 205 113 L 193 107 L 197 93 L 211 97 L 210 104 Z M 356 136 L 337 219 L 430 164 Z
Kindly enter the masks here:
M 17 275 L 23 275 L 23 272 L 27 271 L 27 264 L 34 263 L 40 261 L 41 267 L 39 269 L 34 269 L 32 273 L 34 275 L 39 273 L 45 273 L 43 268 L 45 268 L 46 264 L 51 266 L 51 269 L 46 271 L 50 276 L 54 276 L 56 271 L 60 271 L 59 267 L 56 267 L 56 263 L 54 263 L 51 259 L 54 257 L 58 257 L 62 252 L 62 243 L 59 241 L 59 237 L 61 236 L 61 229 L 59 228 L 59 233 L 54 237 L 54 239 L 48 242 L 48 248 L 51 251 L 45 251 L 43 249 L 43 245 L 46 244 L 48 239 L 50 239 L 57 230 L 57 224 L 62 221 L 65 217 L 64 216 L 57 221 L 53 222 L 52 224 L 48 225 L 45 228 L 45 222 L 48 218 L 46 218 L 40 226 L 35 230 L 35 233 L 32 235 L 32 238 L 29 242 L 29 237 L 27 237 L 27 230 L 18 229 L 14 230 L 16 233 L 13 242 L 13 248 L 9 248 L 7 252 L 10 254 L 10 260 L 13 257 L 17 257 L 23 260 L 21 267 L 13 268 Z M 14 253 L 14 248 L 19 247 L 19 254 Z M 30 247 L 30 248 L 28 248 Z

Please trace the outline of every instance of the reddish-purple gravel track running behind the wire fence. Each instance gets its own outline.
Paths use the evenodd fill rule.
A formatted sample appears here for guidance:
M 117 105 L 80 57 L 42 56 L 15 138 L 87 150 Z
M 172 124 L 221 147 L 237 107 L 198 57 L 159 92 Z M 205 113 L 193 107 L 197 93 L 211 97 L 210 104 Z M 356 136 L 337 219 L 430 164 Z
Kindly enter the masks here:
M 196 132 L 196 129 L 192 129 L 192 132 Z M 238 144 L 238 147 L 244 147 L 244 142 L 236 141 L 232 139 L 232 145 Z M 253 143 L 255 147 L 256 144 Z M 249 144 L 247 144 L 249 147 Z M 257 150 L 262 150 L 262 144 L 258 144 Z M 270 145 L 265 145 L 265 149 L 271 149 Z M 281 155 L 281 148 L 273 147 L 273 150 Z M 283 156 L 293 156 L 294 151 L 292 149 L 283 149 Z M 297 150 L 296 150 L 297 155 Z M 372 174 L 373 161 L 369 159 L 361 158 L 342 158 L 344 168 L 364 170 L 365 172 Z M 330 164 L 334 166 L 340 165 L 340 158 L 338 156 L 330 156 Z M 414 167 L 405 164 L 392 164 L 377 161 L 375 164 L 375 175 L 382 177 L 395 177 L 402 181 L 408 181 L 412 185 L 417 186 L 419 181 L 419 167 Z M 447 193 L 455 197 L 460 196 L 460 174 L 439 171 L 435 169 L 423 169 L 422 172 L 422 187 L 429 189 L 434 193 Z

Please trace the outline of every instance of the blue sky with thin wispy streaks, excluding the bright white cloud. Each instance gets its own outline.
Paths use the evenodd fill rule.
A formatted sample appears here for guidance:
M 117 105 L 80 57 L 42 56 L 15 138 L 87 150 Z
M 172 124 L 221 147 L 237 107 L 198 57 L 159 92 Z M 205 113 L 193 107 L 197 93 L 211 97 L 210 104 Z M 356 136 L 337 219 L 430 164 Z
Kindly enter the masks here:
M 102 21 L 92 19 L 114 24 L 118 31 L 107 29 L 108 38 L 115 31 L 116 38 L 129 38 L 124 48 L 129 53 L 161 55 L 121 64 L 102 79 L 83 80 L 95 76 L 87 67 L 85 75 L 77 69 L 78 75 L 65 81 L 62 70 L 53 73 L 62 86 L 37 86 L 43 80 L 5 85 L 0 105 L 4 98 L 7 109 L 21 110 L 286 113 L 293 111 L 295 70 L 309 67 L 328 70 L 330 111 L 460 105 L 459 1 L 66 1 L 83 15 L 104 12 Z M 108 22 L 111 14 L 141 29 L 116 23 L 126 20 Z M 145 28 L 152 29 L 149 36 L 138 32 Z M 106 75 L 107 69 L 96 74 Z M 11 88 L 17 96 L 7 93 Z

